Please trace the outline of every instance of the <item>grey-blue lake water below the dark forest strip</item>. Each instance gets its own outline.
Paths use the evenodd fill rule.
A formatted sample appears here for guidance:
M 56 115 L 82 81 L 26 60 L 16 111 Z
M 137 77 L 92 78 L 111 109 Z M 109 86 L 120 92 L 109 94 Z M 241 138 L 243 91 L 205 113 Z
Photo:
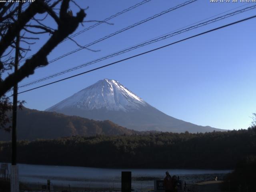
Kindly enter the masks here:
M 180 176 L 188 184 L 204 180 L 221 180 L 224 174 L 232 170 L 197 170 L 197 169 L 110 169 L 73 166 L 48 166 L 18 164 L 20 181 L 41 186 L 50 179 L 53 186 L 76 186 L 87 189 L 121 187 L 121 172 L 132 172 L 132 188 L 154 188 L 154 179 L 163 179 L 168 170 L 173 176 Z M 10 164 L 9 164 L 10 170 Z

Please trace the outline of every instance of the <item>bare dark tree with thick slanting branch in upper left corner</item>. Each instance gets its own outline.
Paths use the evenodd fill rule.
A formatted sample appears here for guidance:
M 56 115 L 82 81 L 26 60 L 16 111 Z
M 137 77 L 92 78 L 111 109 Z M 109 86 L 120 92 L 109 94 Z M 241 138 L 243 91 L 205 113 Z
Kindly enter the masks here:
M 70 3 L 79 8 L 76 14 L 69 9 Z M 19 8 L 22 11 L 18 15 Z M 12 103 L 6 97 L 6 92 L 14 84 L 34 74 L 36 68 L 48 65 L 48 54 L 60 42 L 69 38 L 68 36 L 76 30 L 78 25 L 84 22 L 85 10 L 74 0 L 36 0 L 30 4 L 28 2 L 26 4 L 0 3 L 0 128 L 4 128 L 9 122 L 6 112 L 11 110 Z M 54 20 L 56 27 L 47 24 L 48 17 Z M 30 46 L 36 43 L 40 34 L 49 34 L 49 38 L 14 73 L 12 72 L 13 52 L 16 49 L 18 34 L 20 34 L 19 60 L 31 50 Z M 78 43 L 76 44 L 79 46 Z M 6 76 L 4 79 L 3 74 Z M 23 102 L 21 101 L 20 104 Z

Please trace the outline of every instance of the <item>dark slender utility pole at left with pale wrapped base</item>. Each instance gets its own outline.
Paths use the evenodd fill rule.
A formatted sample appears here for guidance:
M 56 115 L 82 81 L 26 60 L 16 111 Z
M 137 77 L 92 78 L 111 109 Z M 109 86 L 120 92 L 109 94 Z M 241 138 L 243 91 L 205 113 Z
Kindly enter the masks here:
M 22 4 L 18 4 L 18 16 L 19 19 L 21 13 Z M 14 61 L 14 73 L 18 71 L 19 64 L 19 52 L 20 52 L 20 32 L 16 36 L 15 44 L 15 61 Z M 12 167 L 11 167 L 11 192 L 19 192 L 19 179 L 18 179 L 18 167 L 17 167 L 17 101 L 18 101 L 18 83 L 13 87 L 13 102 L 12 102 Z

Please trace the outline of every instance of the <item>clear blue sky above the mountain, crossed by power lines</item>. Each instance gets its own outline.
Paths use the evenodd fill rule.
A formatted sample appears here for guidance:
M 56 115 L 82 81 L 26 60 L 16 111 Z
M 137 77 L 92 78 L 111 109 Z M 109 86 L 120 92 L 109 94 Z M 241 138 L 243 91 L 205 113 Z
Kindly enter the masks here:
M 82 7 L 89 6 L 86 10 L 86 20 L 104 20 L 139 2 L 141 0 L 87 0 L 78 3 Z M 109 22 L 114 25 L 101 24 L 74 39 L 86 45 L 182 2 L 185 1 L 152 0 L 110 20 Z M 198 0 L 90 47 L 100 50 L 99 52 L 81 50 L 44 68 L 39 68 L 34 75 L 24 79 L 20 84 L 100 58 L 238 6 L 242 7 L 236 10 L 252 5 L 253 3 L 210 3 L 210 0 Z M 74 13 L 77 11 L 74 5 L 70 8 Z M 255 14 L 256 9 L 250 10 L 75 70 L 44 83 L 102 66 Z M 47 22 L 54 25 L 50 19 Z M 84 26 L 79 26 L 77 31 L 92 24 L 94 23 L 84 23 Z M 250 116 L 256 112 L 255 30 L 256 19 L 245 21 L 108 68 L 20 94 L 18 99 L 26 100 L 25 106 L 28 108 L 45 110 L 98 80 L 109 78 L 118 80 L 146 102 L 175 118 L 222 129 L 248 128 L 252 121 Z M 49 38 L 48 35 L 41 36 L 38 43 L 32 46 L 32 52 L 38 50 L 47 38 Z M 68 40 L 54 49 L 48 56 L 48 60 L 76 48 L 78 48 L 76 44 Z M 21 88 L 19 91 L 34 86 Z

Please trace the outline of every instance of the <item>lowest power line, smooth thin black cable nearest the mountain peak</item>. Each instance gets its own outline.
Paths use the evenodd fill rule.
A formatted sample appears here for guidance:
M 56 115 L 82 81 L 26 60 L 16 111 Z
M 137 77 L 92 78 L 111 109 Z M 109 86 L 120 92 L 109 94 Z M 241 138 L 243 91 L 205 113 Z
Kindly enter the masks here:
M 221 28 L 225 28 L 225 27 L 228 27 L 228 26 L 231 26 L 231 25 L 240 23 L 240 22 L 244 22 L 244 21 L 246 21 L 246 20 L 250 20 L 250 19 L 252 19 L 252 18 L 256 18 L 256 15 L 251 16 L 251 17 L 248 17 L 248 18 L 245 18 L 245 19 L 242 19 L 242 20 L 238 20 L 238 21 L 236 21 L 236 22 L 232 22 L 232 23 L 230 23 L 230 24 L 226 24 L 226 25 L 223 25 L 223 26 L 220 26 L 220 27 L 211 29 L 211 30 L 208 30 L 208 31 L 206 31 L 206 32 L 202 32 L 202 33 L 200 33 L 200 34 L 196 34 L 196 35 L 190 36 L 190 37 L 188 37 L 188 38 L 184 38 L 184 39 L 182 39 L 182 40 L 179 40 L 179 41 L 176 41 L 176 42 L 173 42 L 173 43 L 170 43 L 170 44 L 167 44 L 167 45 L 164 45 L 164 46 L 161 46 L 161 47 L 158 47 L 158 48 L 155 48 L 155 49 L 152 49 L 152 50 L 149 50 L 149 51 L 146 51 L 146 52 L 143 52 L 143 53 L 140 53 L 140 54 L 137 54 L 137 55 L 128 57 L 128 58 L 125 58 L 125 59 L 122 59 L 122 60 L 118 60 L 118 61 L 116 61 L 116 62 L 112 62 L 112 63 L 107 64 L 107 65 L 104 65 L 104 66 L 100 66 L 100 67 L 98 67 L 98 68 L 94 68 L 94 69 L 92 69 L 92 70 L 88 70 L 88 71 L 85 71 L 85 72 L 82 72 L 82 73 L 79 73 L 79 74 L 76 74 L 76 75 L 73 75 L 73 76 L 69 76 L 69 77 L 67 77 L 67 78 L 63 78 L 63 79 L 60 79 L 60 80 L 57 80 L 57 81 L 54 81 L 54 82 L 51 82 L 51 83 L 48 83 L 48 84 L 44 84 L 44 85 L 42 85 L 42 86 L 38 86 L 38 87 L 29 89 L 29 90 L 25 90 L 25 91 L 19 92 L 18 94 L 21 94 L 21 93 L 24 93 L 24 92 L 28 92 L 28 91 L 31 91 L 31 90 L 35 90 L 35 89 L 38 89 L 38 88 L 41 88 L 41 87 L 44 87 L 44 86 L 48 86 L 48 85 L 50 85 L 50 84 L 54 84 L 54 83 L 57 83 L 57 82 L 60 82 L 60 81 L 64 81 L 64 80 L 67 80 L 67 79 L 70 79 L 70 78 L 73 78 L 73 77 L 76 77 L 76 76 L 80 76 L 80 75 L 82 75 L 82 74 L 86 74 L 86 73 L 89 73 L 89 72 L 92 72 L 92 71 L 95 71 L 95 70 L 98 70 L 98 69 L 101 69 L 101 68 L 105 68 L 105 67 L 111 66 L 111 65 L 113 65 L 113 64 L 120 63 L 120 62 L 122 62 L 122 61 L 129 60 L 129 59 L 131 59 L 131 58 L 135 58 L 135 57 L 138 57 L 138 56 L 141 56 L 141 55 L 144 55 L 144 54 L 147 54 L 147 53 L 150 53 L 150 52 L 153 52 L 153 51 L 156 51 L 156 50 L 165 48 L 165 47 L 167 47 L 167 46 L 171 46 L 171 45 L 173 45 L 173 44 L 177 44 L 177 43 L 179 43 L 179 42 L 182 42 L 182 41 L 185 41 L 185 40 L 188 40 L 188 39 L 191 39 L 191 38 L 194 38 L 194 37 L 197 37 L 197 36 L 200 36 L 200 35 L 209 33 L 209 32 L 213 32 L 213 31 L 219 30 L 219 29 L 221 29 Z

